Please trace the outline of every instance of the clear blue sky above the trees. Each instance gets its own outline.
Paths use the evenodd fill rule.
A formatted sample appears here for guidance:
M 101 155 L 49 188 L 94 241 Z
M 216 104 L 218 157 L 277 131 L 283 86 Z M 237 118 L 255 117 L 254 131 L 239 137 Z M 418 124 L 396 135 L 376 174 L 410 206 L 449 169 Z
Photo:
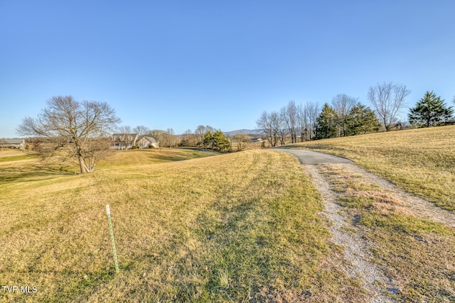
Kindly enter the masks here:
M 0 0 L 0 138 L 57 95 L 122 125 L 255 128 L 289 100 L 455 95 L 455 1 Z

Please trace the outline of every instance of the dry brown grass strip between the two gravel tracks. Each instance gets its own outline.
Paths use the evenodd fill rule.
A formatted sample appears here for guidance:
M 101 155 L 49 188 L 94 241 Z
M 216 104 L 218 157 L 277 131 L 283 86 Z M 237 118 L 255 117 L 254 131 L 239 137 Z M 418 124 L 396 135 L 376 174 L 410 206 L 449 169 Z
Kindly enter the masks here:
M 421 219 L 412 206 L 371 184 L 368 177 L 323 165 L 373 251 L 373 262 L 397 287 L 397 302 L 455 301 L 455 231 Z

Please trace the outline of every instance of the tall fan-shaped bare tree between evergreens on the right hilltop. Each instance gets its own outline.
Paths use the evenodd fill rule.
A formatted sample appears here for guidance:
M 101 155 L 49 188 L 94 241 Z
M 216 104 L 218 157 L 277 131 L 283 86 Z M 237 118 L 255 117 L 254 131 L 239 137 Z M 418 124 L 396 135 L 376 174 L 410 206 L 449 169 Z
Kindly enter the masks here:
M 386 131 L 390 131 L 400 109 L 406 106 L 405 98 L 410 93 L 405 85 L 392 82 L 376 84 L 368 90 L 368 99 Z

